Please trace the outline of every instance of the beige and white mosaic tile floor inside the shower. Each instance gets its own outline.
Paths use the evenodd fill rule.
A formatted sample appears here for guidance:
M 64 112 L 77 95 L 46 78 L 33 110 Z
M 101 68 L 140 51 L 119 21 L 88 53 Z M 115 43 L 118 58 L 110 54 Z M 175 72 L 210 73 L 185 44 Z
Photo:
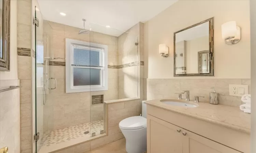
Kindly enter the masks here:
M 44 142 L 42 146 L 52 146 L 61 142 L 69 141 L 71 139 L 87 136 L 90 137 L 92 133 L 96 135 L 100 134 L 100 131 L 104 129 L 104 121 L 98 120 L 90 123 L 78 124 L 70 126 L 63 129 L 54 130 L 51 132 L 46 132 L 43 134 L 42 141 Z M 90 131 L 91 130 L 91 131 Z M 88 132 L 87 134 L 84 134 Z M 41 145 L 40 145 L 41 146 Z

